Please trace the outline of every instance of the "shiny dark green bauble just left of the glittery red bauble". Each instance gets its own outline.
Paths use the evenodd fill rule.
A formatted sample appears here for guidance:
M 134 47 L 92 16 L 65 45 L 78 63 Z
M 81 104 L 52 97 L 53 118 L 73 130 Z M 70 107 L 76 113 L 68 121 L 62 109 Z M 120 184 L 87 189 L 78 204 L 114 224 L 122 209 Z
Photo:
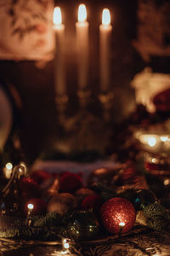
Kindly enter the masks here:
M 99 222 L 93 212 L 74 212 L 66 229 L 71 239 L 92 240 L 99 233 Z

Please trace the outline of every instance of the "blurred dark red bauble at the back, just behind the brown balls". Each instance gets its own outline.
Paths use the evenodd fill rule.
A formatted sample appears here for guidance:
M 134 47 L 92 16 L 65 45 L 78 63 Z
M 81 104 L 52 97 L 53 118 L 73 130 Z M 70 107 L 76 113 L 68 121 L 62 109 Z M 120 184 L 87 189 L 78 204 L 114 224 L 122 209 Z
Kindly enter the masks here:
M 60 193 L 74 193 L 82 188 L 82 177 L 76 173 L 65 172 L 59 180 Z

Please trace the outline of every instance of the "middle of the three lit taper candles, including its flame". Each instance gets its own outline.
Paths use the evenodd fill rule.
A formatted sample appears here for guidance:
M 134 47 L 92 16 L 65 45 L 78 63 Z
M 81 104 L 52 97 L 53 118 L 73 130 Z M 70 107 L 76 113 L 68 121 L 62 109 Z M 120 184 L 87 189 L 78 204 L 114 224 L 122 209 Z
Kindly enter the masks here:
M 88 21 L 84 4 L 78 8 L 77 29 L 77 67 L 78 87 L 83 90 L 88 84 Z

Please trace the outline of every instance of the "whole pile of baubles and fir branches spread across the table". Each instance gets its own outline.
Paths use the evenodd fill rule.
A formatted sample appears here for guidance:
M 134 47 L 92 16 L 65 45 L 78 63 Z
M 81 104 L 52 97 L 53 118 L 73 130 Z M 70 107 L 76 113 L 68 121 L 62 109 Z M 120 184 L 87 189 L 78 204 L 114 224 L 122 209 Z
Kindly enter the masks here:
M 111 181 L 110 171 L 104 170 Z M 110 184 L 102 183 L 95 173 L 87 185 L 82 183 L 82 173 L 43 170 L 11 180 L 1 198 L 0 237 L 91 241 L 133 230 L 137 216 L 140 224 L 143 221 L 152 229 L 170 230 L 170 214 L 150 190 L 120 189 L 120 185 L 138 180 L 134 168 L 112 173 Z M 104 176 L 102 180 L 105 182 Z M 31 212 L 28 205 L 33 206 Z

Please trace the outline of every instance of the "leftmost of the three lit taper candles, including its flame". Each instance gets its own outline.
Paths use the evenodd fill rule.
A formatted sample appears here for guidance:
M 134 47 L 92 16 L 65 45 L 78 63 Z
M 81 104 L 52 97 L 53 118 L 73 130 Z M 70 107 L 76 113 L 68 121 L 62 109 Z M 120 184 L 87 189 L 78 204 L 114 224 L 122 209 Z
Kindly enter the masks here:
M 55 59 L 54 79 L 56 94 L 65 94 L 65 25 L 62 24 L 61 10 L 54 8 Z

